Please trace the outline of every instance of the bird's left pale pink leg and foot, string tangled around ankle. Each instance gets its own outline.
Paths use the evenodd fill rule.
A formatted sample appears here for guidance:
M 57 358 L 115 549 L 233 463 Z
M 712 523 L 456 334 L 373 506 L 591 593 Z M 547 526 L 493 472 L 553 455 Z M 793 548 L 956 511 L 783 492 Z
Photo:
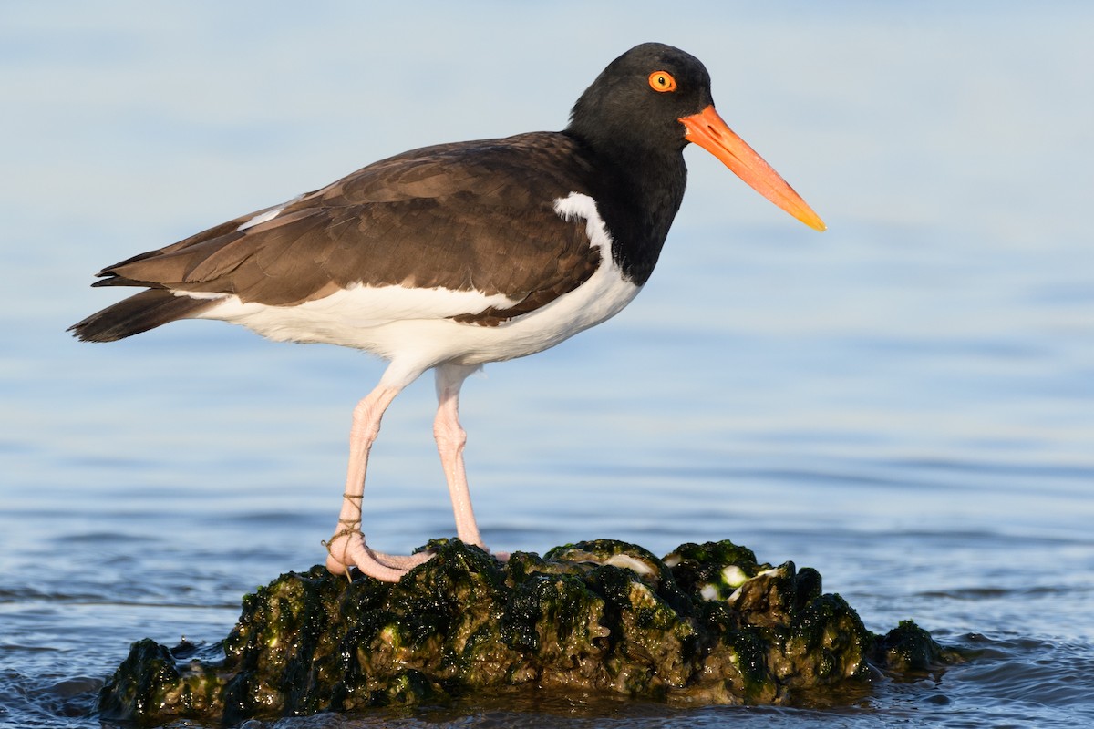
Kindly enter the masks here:
M 429 560 L 428 553 L 396 556 L 374 552 L 365 544 L 361 532 L 361 501 L 364 496 L 364 475 L 369 467 L 369 450 L 380 434 L 384 411 L 401 388 L 381 384 L 353 409 L 353 427 L 350 431 L 349 468 L 346 492 L 342 494 L 338 528 L 326 543 L 327 569 L 336 575 L 348 574 L 353 565 L 364 574 L 388 583 L 398 580 L 407 569 Z

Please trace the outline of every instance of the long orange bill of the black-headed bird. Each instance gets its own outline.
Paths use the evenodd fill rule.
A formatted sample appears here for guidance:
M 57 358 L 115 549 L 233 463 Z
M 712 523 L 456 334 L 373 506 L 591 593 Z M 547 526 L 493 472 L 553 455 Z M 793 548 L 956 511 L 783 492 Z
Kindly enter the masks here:
M 753 148 L 733 133 L 722 117 L 710 105 L 699 114 L 680 118 L 680 124 L 687 128 L 684 138 L 695 142 L 721 160 L 734 175 L 743 179 L 754 190 L 779 205 L 788 213 L 817 231 L 827 226 L 821 216 L 787 185 L 787 180 L 764 162 Z

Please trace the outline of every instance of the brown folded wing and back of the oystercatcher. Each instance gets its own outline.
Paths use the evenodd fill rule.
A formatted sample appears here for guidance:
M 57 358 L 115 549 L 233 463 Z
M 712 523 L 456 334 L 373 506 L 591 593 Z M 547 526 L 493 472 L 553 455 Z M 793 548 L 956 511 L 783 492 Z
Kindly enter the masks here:
M 292 305 L 353 284 L 502 293 L 513 309 L 552 301 L 600 263 L 584 223 L 554 201 L 586 192 L 589 165 L 550 132 L 424 148 L 360 169 L 286 204 L 241 215 L 104 269 L 96 285 L 235 294 Z M 241 230 L 242 227 L 242 230 Z

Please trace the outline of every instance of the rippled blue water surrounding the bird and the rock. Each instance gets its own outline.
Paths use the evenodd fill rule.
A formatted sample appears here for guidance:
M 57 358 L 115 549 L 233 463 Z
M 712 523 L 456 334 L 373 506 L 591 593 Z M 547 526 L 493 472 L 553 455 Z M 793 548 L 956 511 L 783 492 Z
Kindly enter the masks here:
M 981 650 L 847 705 L 544 697 L 270 726 L 1094 721 L 1094 10 L 1080 3 L 8 3 L 0 9 L 0 725 L 93 727 L 131 640 L 222 637 L 323 556 L 356 352 L 212 322 L 63 330 L 101 266 L 439 141 L 560 128 L 610 58 L 699 56 L 824 216 L 688 151 L 647 291 L 465 387 L 496 549 L 731 538 L 866 625 Z M 384 424 L 370 542 L 453 531 L 432 385 Z

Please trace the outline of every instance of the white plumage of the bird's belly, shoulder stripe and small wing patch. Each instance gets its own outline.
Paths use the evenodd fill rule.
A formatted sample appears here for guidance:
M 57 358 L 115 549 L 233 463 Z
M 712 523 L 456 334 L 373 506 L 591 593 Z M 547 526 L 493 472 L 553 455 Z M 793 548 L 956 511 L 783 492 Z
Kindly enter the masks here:
M 256 215 L 241 230 L 272 220 L 281 209 Z M 555 201 L 555 211 L 563 220 L 584 221 L 590 245 L 600 250 L 601 266 L 573 291 L 493 327 L 461 324 L 451 317 L 490 307 L 504 309 L 520 302 L 474 290 L 401 285 L 356 285 L 294 306 L 244 303 L 224 294 L 174 293 L 223 297 L 200 318 L 240 324 L 274 340 L 352 346 L 391 360 L 384 379 L 401 386 L 444 362 L 479 365 L 539 352 L 615 316 L 630 303 L 639 286 L 626 280 L 613 261 L 612 238 L 595 201 L 571 192 Z

